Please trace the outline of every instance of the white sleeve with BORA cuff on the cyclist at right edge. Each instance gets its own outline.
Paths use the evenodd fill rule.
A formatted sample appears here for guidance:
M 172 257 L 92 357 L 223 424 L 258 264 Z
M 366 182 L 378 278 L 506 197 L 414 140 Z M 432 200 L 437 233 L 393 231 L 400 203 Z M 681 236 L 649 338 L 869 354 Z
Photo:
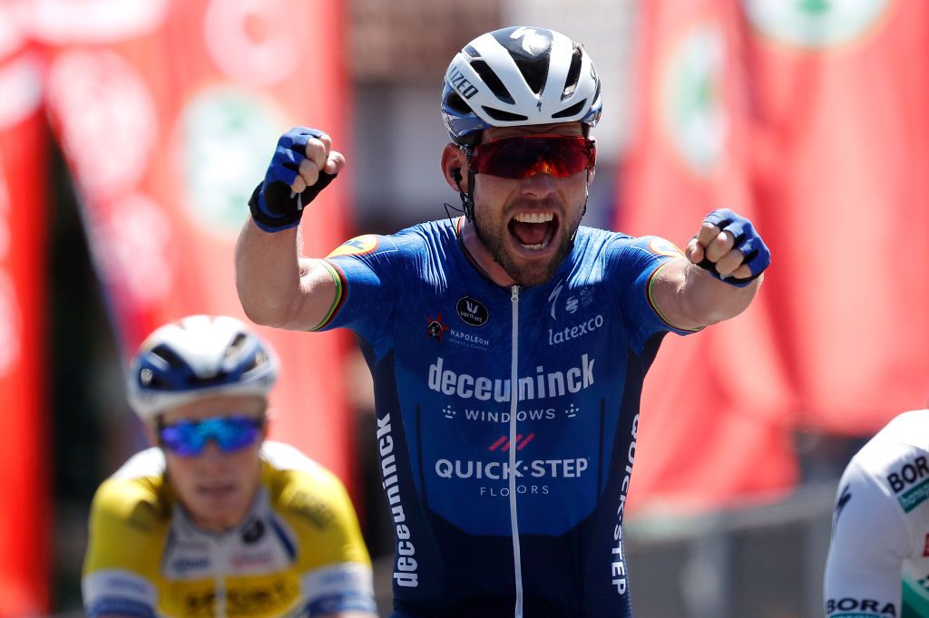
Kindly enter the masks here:
M 827 618 L 900 616 L 906 522 L 894 496 L 856 460 L 839 483 L 824 577 Z

